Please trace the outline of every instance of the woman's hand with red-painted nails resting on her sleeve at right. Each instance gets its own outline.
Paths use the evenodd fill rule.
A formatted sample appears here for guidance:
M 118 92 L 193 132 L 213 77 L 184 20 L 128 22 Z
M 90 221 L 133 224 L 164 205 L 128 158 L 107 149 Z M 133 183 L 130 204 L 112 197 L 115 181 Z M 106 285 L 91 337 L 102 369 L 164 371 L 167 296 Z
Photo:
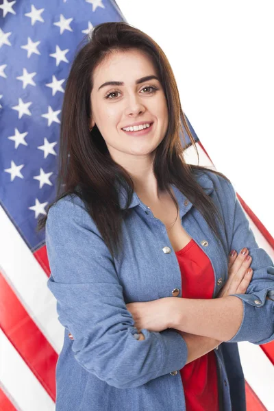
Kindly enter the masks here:
M 247 291 L 253 270 L 249 267 L 252 261 L 251 256 L 249 256 L 249 250 L 246 248 L 242 249 L 242 251 L 244 250 L 247 252 L 245 254 L 239 253 L 238 256 L 235 250 L 234 256 L 229 254 L 228 279 L 220 290 L 218 298 L 227 297 L 232 294 L 245 294 Z

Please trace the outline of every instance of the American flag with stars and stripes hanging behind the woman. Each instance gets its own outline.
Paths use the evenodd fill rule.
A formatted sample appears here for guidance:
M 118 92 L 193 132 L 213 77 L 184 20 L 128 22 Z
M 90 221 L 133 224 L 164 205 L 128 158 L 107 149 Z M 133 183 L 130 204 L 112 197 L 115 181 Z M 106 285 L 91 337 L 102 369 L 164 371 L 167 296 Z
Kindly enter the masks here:
M 84 36 L 105 21 L 125 21 L 114 0 L 0 0 L 0 410 L 55 408 L 64 330 L 47 288 L 45 232 L 36 232 L 36 225 L 55 198 L 60 110 L 71 62 Z M 213 166 L 190 129 L 199 164 Z M 192 147 L 185 152 L 195 163 Z M 273 238 L 240 201 L 258 242 L 273 256 Z M 251 365 L 247 350 L 253 350 Z M 266 410 L 273 343 L 247 343 L 241 360 L 247 409 Z M 264 373 L 256 376 L 258 364 Z

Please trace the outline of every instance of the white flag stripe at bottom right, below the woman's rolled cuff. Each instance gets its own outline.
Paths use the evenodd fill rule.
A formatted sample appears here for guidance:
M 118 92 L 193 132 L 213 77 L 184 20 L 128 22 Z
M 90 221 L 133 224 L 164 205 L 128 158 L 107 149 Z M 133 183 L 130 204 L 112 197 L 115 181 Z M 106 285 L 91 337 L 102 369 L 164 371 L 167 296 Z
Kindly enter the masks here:
M 260 398 L 268 411 L 274 411 L 273 364 L 260 349 L 259 345 L 251 343 L 238 343 L 240 361 L 245 379 Z

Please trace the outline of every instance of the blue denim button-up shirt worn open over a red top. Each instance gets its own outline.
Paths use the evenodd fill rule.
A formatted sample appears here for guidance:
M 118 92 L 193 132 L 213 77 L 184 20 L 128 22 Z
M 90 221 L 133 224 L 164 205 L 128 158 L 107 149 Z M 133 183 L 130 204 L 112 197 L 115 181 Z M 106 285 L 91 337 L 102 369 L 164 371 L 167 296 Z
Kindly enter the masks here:
M 237 343 L 264 344 L 274 339 L 273 262 L 258 247 L 232 184 L 211 171 L 197 173 L 197 182 L 221 210 L 225 221 L 221 241 L 192 203 L 172 187 L 184 229 L 212 263 L 214 297 L 227 281 L 229 251 L 239 253 L 247 247 L 252 257 L 252 281 L 246 294 L 237 295 L 244 306 L 240 328 L 214 351 L 223 410 L 245 410 Z M 125 200 L 121 189 L 123 208 Z M 164 224 L 136 192 L 130 209 L 123 221 L 123 253 L 114 260 L 79 197 L 66 196 L 49 210 L 48 286 L 64 326 L 56 368 L 56 411 L 186 410 L 181 375 L 173 373 L 186 364 L 184 338 L 175 329 L 142 329 L 145 340 L 137 340 L 134 319 L 126 308 L 131 302 L 172 297 L 174 288 L 181 290 L 178 297 L 182 297 L 179 264 Z M 166 246 L 171 253 L 164 253 Z

